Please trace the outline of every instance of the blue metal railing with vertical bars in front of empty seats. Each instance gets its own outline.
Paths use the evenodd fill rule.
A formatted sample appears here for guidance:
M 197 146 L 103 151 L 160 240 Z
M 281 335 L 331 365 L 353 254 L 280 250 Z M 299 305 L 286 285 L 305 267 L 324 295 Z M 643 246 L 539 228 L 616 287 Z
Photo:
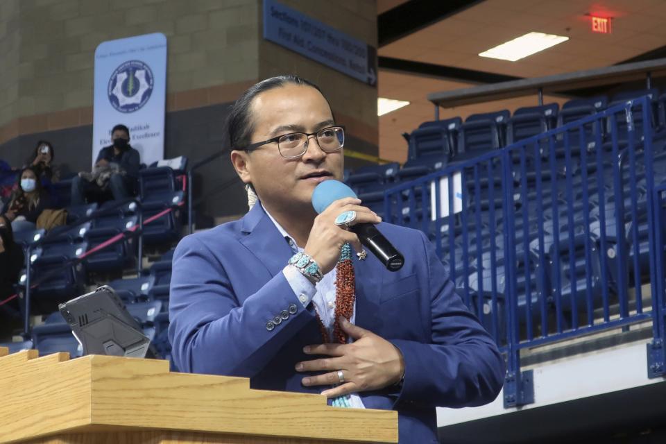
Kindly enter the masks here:
M 385 193 L 384 219 L 429 236 L 506 353 L 507 407 L 533 400 L 525 348 L 648 320 L 663 347 L 651 112 L 647 97 L 626 101 Z

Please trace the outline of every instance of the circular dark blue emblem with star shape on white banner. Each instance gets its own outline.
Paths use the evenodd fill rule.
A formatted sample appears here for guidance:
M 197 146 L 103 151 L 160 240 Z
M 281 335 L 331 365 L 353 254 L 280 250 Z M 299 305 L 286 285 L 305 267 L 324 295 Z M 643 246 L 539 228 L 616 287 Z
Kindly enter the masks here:
M 140 60 L 130 60 L 117 67 L 109 79 L 108 96 L 120 112 L 141 109 L 153 92 L 153 71 Z

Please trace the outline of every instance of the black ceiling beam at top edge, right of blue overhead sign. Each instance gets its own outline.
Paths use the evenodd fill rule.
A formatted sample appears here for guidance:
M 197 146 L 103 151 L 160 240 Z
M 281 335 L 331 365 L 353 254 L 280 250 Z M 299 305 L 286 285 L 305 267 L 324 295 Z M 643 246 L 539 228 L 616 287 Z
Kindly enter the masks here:
M 409 0 L 377 16 L 381 48 L 484 0 Z

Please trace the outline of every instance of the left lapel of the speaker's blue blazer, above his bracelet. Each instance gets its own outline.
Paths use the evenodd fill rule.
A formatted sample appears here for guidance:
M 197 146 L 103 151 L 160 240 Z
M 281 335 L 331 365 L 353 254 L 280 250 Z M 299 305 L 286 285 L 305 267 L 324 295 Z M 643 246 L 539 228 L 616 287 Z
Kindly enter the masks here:
M 280 273 L 293 253 L 262 205 L 257 203 L 244 216 L 242 230 L 247 236 L 241 239 L 241 244 L 266 266 L 271 277 Z

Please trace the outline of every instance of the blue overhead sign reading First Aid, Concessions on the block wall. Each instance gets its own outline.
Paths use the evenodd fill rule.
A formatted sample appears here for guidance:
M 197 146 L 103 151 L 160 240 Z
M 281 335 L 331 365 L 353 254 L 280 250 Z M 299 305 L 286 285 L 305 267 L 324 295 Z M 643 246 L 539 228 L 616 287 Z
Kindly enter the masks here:
M 377 85 L 377 49 L 273 0 L 264 0 L 264 39 Z

